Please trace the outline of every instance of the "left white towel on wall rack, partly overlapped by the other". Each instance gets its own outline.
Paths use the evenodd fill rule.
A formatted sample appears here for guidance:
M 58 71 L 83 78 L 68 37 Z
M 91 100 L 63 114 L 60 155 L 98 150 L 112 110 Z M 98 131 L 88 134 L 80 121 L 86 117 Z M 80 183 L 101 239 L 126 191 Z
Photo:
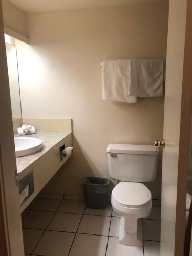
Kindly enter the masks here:
M 103 99 L 135 103 L 136 97 L 128 95 L 129 59 L 102 62 Z

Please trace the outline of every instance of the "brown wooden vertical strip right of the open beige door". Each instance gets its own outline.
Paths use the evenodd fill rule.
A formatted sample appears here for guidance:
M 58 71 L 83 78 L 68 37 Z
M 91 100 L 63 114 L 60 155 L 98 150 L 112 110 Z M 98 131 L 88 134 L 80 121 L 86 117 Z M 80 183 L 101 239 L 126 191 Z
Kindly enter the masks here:
M 183 64 L 183 84 L 181 97 L 181 123 L 179 141 L 179 161 L 177 180 L 176 227 L 175 227 L 175 256 L 183 255 L 186 193 L 188 177 L 188 157 L 190 141 L 190 125 L 192 114 L 192 2 L 187 0 L 185 50 Z M 182 254 L 181 254 L 182 253 Z

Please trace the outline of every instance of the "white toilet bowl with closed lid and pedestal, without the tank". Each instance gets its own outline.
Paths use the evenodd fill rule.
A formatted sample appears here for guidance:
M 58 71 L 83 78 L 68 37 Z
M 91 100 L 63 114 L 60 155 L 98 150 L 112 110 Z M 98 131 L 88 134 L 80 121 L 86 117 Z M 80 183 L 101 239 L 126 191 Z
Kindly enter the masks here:
M 119 243 L 142 246 L 142 220 L 152 208 L 150 190 L 137 182 L 120 182 L 112 191 L 111 203 L 116 214 L 121 216 Z

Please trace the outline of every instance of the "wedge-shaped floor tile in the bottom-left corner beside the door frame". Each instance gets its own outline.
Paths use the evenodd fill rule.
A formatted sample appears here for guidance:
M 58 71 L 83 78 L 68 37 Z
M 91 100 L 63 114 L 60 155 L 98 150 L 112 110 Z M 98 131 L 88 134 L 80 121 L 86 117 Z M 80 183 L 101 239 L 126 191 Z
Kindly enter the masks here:
M 43 232 L 42 230 L 36 229 L 23 229 L 25 253 L 32 253 Z

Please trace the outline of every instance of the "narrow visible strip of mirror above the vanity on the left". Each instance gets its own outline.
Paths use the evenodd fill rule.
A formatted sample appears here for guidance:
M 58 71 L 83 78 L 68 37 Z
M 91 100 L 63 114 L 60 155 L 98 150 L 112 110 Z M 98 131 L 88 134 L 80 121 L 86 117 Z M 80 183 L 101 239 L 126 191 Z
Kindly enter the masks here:
M 13 121 L 22 118 L 16 47 L 6 43 L 7 66 Z

